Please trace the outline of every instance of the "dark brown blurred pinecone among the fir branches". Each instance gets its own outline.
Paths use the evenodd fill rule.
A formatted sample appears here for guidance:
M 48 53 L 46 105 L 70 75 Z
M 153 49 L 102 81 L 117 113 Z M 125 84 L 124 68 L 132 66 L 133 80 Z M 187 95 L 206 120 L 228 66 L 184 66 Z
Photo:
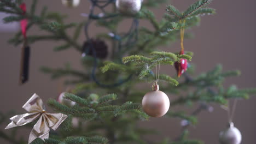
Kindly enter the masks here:
M 104 59 L 108 56 L 108 46 L 103 40 L 100 39 L 90 39 L 85 41 L 83 45 L 83 55 L 82 56 L 92 56 L 94 57 L 94 51 L 97 58 Z

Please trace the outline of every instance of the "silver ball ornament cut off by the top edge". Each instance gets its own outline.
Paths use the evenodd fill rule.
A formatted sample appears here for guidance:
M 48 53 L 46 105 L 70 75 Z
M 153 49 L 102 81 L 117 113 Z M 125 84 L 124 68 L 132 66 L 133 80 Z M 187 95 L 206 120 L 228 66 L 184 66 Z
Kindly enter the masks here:
M 115 6 L 125 15 L 134 15 L 141 9 L 142 0 L 117 0 Z

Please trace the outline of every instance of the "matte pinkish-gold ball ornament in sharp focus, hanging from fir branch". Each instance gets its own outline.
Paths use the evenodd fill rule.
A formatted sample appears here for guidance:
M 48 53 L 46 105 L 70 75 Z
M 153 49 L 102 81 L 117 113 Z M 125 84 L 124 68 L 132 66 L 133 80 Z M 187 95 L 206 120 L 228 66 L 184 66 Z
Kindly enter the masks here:
M 153 91 L 148 92 L 142 99 L 142 108 L 151 117 L 164 116 L 170 107 L 168 96 L 159 91 L 159 86 L 154 83 Z

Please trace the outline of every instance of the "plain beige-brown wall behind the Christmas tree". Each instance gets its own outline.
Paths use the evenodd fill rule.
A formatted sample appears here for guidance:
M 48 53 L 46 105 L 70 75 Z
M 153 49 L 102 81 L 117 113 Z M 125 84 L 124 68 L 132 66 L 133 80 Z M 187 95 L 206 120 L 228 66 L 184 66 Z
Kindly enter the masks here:
M 169 2 L 177 8 L 184 10 L 191 3 L 191 0 L 173 0 Z M 27 1 L 28 4 L 31 1 Z M 185 40 L 186 50 L 193 51 L 193 63 L 197 65 L 197 73 L 212 69 L 216 64 L 222 63 L 224 70 L 240 69 L 242 75 L 237 78 L 228 79 L 225 83 L 229 86 L 236 83 L 239 88 L 256 87 L 256 68 L 255 68 L 255 9 L 256 1 L 246 0 L 226 0 L 212 2 L 210 7 L 217 9 L 217 14 L 202 17 L 201 26 L 194 27 L 192 31 L 194 39 Z M 78 8 L 67 9 L 62 6 L 61 1 L 40 1 L 39 8 L 48 5 L 49 10 L 59 11 L 63 14 L 69 14 L 67 21 L 82 21 L 84 17 L 80 13 L 88 13 L 88 1 L 82 1 Z M 165 13 L 165 5 L 153 9 L 159 18 Z M 38 10 L 39 12 L 39 10 Z M 149 23 L 142 22 L 141 26 L 149 26 Z M 127 27 L 124 25 L 124 27 Z M 92 27 L 96 33 L 100 31 Z M 42 33 L 34 28 L 31 34 Z M 39 68 L 42 65 L 50 67 L 62 67 L 64 63 L 69 62 L 73 68 L 80 69 L 80 53 L 74 50 L 63 52 L 53 52 L 52 47 L 56 45 L 54 41 L 44 41 L 31 45 L 30 62 L 30 80 L 22 86 L 18 86 L 18 76 L 20 67 L 20 48 L 7 44 L 7 40 L 13 37 L 14 33 L 1 32 L 0 43 L 0 109 L 1 111 L 18 110 L 24 112 L 21 106 L 33 94 L 38 93 L 44 101 L 49 98 L 56 98 L 63 87 L 60 89 L 60 80 L 51 81 L 49 75 L 40 73 Z M 80 43 L 84 41 L 81 37 Z M 58 42 L 59 44 L 59 42 Z M 170 46 L 160 47 L 166 51 L 177 51 L 179 43 Z M 173 69 L 172 69 L 173 70 Z M 168 73 L 167 69 L 162 73 Z M 256 98 L 239 101 L 236 110 L 234 122 L 241 130 L 243 144 L 254 143 L 256 133 L 255 116 Z M 214 106 L 214 112 L 202 112 L 199 115 L 199 124 L 192 127 L 190 137 L 193 139 L 202 139 L 207 144 L 218 143 L 218 133 L 226 125 L 226 112 L 218 106 Z M 152 141 L 158 141 L 164 137 L 173 139 L 179 134 L 179 120 L 170 118 L 152 118 L 149 122 L 141 122 L 143 127 L 156 128 L 162 132 L 162 135 L 147 137 Z M 5 125 L 1 125 L 3 129 Z M 28 136 L 29 131 L 27 132 Z M 2 142 L 7 143 L 7 142 Z

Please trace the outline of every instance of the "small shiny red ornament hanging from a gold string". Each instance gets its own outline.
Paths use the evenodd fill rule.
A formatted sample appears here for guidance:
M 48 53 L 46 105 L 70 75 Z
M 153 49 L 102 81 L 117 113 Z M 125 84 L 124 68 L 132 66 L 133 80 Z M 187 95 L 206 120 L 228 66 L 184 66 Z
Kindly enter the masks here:
M 185 25 L 185 20 L 181 23 L 183 23 L 183 25 Z M 179 52 L 179 55 L 184 55 L 184 45 L 183 45 L 184 32 L 185 32 L 185 29 L 184 29 L 184 26 L 183 26 L 181 28 L 181 51 Z M 174 63 L 174 67 L 177 71 L 177 76 L 180 77 L 188 68 L 187 59 L 181 58 L 180 61 L 177 61 L 177 62 Z

